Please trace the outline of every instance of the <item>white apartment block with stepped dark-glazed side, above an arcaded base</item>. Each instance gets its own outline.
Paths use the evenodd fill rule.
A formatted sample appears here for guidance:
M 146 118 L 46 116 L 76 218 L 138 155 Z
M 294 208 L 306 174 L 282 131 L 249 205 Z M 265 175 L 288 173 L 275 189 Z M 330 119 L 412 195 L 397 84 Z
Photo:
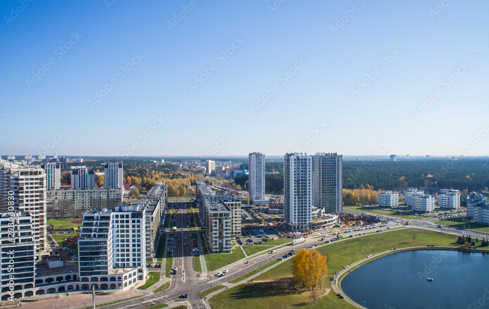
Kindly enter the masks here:
M 107 282 L 105 288 L 117 285 L 126 290 L 144 280 L 145 212 L 145 207 L 137 205 L 84 214 L 78 240 L 81 281 L 115 281 Z

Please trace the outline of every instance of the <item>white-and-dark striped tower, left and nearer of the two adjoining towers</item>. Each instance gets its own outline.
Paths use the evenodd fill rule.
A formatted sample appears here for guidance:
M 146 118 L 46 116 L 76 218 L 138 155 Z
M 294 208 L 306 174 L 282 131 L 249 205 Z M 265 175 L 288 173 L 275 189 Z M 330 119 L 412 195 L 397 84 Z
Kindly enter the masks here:
M 292 231 L 307 231 L 312 226 L 314 203 L 312 155 L 284 156 L 284 220 Z

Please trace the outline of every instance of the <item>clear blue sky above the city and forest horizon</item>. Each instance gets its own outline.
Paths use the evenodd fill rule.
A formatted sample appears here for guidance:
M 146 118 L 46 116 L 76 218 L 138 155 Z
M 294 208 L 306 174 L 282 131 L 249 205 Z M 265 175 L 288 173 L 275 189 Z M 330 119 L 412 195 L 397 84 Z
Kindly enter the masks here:
M 1 155 L 489 153 L 487 1 L 46 2 L 0 3 Z

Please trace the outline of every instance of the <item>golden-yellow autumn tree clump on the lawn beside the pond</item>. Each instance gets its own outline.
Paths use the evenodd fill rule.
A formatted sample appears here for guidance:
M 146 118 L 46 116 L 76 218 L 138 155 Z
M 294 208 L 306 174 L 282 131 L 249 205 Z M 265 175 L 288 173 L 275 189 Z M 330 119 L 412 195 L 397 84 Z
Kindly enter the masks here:
M 316 250 L 299 250 L 292 258 L 294 281 L 308 289 L 321 288 L 328 272 L 327 258 Z

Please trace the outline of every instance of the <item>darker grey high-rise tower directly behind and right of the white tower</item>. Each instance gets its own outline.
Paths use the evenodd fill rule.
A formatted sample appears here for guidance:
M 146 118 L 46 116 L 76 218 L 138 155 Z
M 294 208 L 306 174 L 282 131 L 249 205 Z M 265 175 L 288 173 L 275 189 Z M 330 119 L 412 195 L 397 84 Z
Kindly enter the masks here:
M 316 153 L 312 156 L 314 206 L 327 213 L 343 212 L 343 155 Z

